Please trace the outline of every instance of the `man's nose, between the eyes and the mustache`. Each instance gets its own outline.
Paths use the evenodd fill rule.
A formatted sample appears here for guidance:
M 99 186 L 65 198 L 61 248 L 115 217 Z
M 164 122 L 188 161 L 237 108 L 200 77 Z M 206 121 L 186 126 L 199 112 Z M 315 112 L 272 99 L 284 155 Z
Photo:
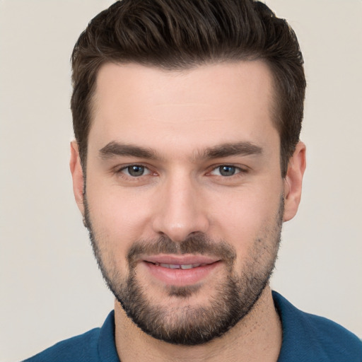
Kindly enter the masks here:
M 206 233 L 209 219 L 200 187 L 189 176 L 166 180 L 157 195 L 153 230 L 175 242 L 194 233 Z

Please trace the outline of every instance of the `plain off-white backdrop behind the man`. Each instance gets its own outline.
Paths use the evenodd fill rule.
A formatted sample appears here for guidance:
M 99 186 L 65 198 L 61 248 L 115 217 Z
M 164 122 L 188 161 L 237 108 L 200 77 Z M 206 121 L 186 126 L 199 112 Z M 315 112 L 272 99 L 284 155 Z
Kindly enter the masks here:
M 0 0 L 0 361 L 102 325 L 113 298 L 71 189 L 71 50 L 107 0 Z M 308 79 L 303 201 L 271 281 L 362 337 L 362 1 L 269 0 Z

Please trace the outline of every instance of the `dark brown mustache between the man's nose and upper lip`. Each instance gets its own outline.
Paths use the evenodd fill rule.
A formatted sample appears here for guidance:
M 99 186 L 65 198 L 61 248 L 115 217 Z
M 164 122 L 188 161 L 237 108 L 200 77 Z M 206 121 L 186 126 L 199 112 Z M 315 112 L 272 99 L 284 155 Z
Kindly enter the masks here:
M 141 255 L 208 255 L 218 257 L 229 263 L 236 259 L 236 250 L 233 246 L 225 243 L 223 240 L 215 241 L 204 234 L 189 235 L 182 242 L 175 242 L 166 235 L 160 236 L 156 240 L 137 240 L 127 252 L 129 265 L 136 262 Z

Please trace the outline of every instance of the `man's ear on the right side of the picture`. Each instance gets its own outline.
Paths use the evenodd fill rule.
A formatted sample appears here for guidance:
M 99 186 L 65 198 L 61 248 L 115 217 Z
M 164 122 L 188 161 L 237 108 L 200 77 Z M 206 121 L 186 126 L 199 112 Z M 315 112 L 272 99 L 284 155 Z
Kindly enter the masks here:
M 289 160 L 288 170 L 284 179 L 283 221 L 291 220 L 298 211 L 305 166 L 305 144 L 298 142 L 296 151 L 294 151 L 293 156 Z

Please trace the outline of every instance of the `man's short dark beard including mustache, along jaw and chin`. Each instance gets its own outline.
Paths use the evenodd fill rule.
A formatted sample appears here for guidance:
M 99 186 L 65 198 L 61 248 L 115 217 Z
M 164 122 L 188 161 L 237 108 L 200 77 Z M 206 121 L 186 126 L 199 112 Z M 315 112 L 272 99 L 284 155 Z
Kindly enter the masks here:
M 91 214 L 84 194 L 84 224 L 88 228 L 95 259 L 103 279 L 127 316 L 146 334 L 170 344 L 204 344 L 221 337 L 252 311 L 274 270 L 281 238 L 284 197 L 271 226 L 261 230 L 253 240 L 241 270 L 235 270 L 236 250 L 223 240 L 212 240 L 203 233 L 191 235 L 181 243 L 167 236 L 156 240 L 136 240 L 127 252 L 128 275 L 122 276 L 116 267 L 112 250 L 106 250 L 107 240 L 100 240 L 91 223 Z M 103 243 L 102 243 L 103 242 Z M 226 275 L 205 285 L 165 287 L 168 298 L 151 298 L 137 278 L 136 260 L 140 255 L 208 255 L 223 260 Z M 210 293 L 207 305 L 194 305 L 187 300 L 197 293 Z M 160 300 L 163 299 L 163 300 Z M 175 299 L 179 303 L 175 303 Z

